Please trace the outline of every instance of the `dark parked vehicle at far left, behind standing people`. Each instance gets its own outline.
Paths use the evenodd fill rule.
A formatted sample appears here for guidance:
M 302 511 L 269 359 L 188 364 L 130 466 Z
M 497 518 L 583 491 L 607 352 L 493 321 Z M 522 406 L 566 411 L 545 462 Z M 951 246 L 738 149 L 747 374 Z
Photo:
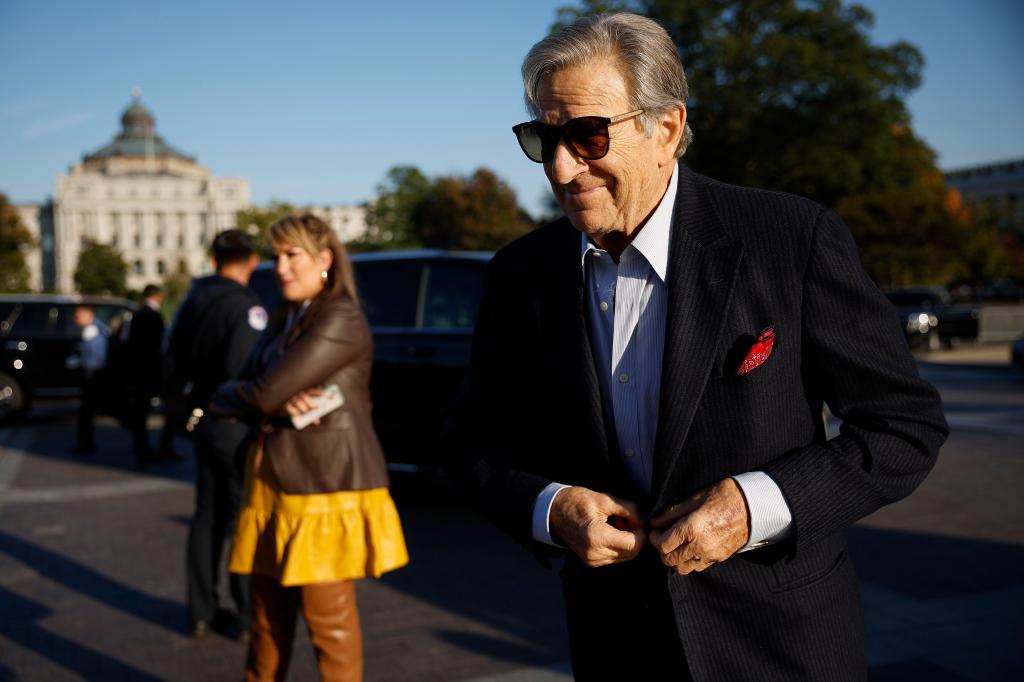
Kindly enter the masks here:
M 0 295 L 0 418 L 23 415 L 37 397 L 74 397 L 82 384 L 82 331 L 75 307 L 120 328 L 135 305 L 106 296 Z

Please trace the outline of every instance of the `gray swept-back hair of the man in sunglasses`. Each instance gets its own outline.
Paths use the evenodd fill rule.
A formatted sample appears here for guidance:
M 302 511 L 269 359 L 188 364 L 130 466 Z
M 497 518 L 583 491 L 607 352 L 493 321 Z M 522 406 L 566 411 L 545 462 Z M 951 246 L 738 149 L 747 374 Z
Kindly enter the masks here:
M 538 90 L 545 76 L 607 57 L 620 62 L 633 109 L 644 110 L 640 122 L 648 137 L 662 114 L 686 105 L 686 75 L 669 34 L 653 19 L 616 13 L 581 17 L 530 48 L 522 61 L 526 109 L 535 117 L 540 115 Z M 687 123 L 676 147 L 677 159 L 692 141 Z

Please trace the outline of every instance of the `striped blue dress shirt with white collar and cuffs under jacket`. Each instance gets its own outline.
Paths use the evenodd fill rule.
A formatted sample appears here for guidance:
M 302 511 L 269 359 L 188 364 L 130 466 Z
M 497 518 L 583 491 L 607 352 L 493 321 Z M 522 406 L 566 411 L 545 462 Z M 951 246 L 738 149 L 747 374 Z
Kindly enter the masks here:
M 587 324 L 600 369 L 601 403 L 614 424 L 614 437 L 628 475 L 647 492 L 651 489 L 657 433 L 666 283 L 677 186 L 673 168 L 665 197 L 617 263 L 586 235 L 581 236 Z M 751 536 L 740 551 L 785 537 L 793 516 L 775 481 L 762 471 L 732 478 L 742 491 L 751 515 Z M 535 540 L 557 544 L 551 539 L 549 516 L 555 496 L 565 487 L 552 482 L 538 496 L 532 518 Z

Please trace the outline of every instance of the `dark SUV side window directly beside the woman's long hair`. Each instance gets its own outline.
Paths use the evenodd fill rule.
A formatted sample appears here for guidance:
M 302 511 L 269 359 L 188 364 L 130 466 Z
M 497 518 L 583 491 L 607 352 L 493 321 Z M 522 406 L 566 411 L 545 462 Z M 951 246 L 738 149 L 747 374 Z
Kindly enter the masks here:
M 416 327 L 423 264 L 393 260 L 355 263 L 362 310 L 372 327 Z

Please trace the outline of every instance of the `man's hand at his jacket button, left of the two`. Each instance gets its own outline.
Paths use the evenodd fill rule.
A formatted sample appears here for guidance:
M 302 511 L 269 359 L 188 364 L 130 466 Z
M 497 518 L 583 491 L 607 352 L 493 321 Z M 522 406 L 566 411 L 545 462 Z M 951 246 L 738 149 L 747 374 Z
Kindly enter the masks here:
M 558 492 L 549 523 L 554 540 L 592 568 L 629 561 L 647 542 L 634 503 L 579 485 Z

